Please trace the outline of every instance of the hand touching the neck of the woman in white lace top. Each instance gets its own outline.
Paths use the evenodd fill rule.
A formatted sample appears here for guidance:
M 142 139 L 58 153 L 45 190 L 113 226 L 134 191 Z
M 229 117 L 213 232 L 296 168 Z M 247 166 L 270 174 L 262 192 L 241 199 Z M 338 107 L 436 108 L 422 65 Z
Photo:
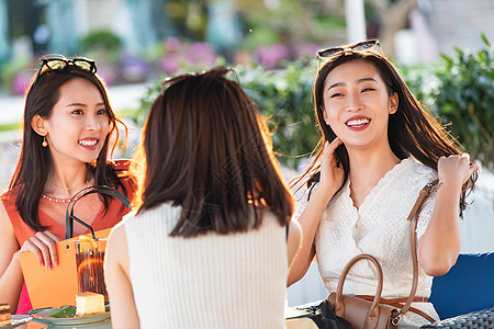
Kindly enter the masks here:
M 319 186 L 321 188 L 327 188 L 332 191 L 337 191 L 344 181 L 345 178 L 345 171 L 336 160 L 336 149 L 338 146 L 343 144 L 341 139 L 339 137 L 336 137 L 333 139 L 332 143 L 326 141 L 324 144 L 324 155 L 321 159 L 321 180 L 319 180 Z

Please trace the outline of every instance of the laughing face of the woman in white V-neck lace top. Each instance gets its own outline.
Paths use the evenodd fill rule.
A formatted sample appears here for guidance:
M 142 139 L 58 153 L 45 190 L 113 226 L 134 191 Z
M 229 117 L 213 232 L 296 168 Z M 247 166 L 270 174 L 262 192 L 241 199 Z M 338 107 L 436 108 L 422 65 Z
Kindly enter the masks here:
M 333 69 L 323 100 L 324 121 L 348 150 L 389 147 L 388 120 L 397 110 L 397 94 L 389 95 L 372 64 L 351 60 Z

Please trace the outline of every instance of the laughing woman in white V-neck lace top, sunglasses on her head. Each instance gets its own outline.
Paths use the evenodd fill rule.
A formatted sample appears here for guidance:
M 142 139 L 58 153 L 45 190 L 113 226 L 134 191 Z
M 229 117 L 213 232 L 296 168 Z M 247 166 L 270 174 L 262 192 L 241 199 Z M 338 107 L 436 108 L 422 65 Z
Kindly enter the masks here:
M 318 53 L 315 113 L 324 146 L 296 183 L 308 191 L 294 215 L 303 246 L 289 283 L 300 280 L 317 258 L 329 293 L 344 266 L 370 253 L 384 272 L 382 297 L 408 297 L 412 256 L 406 220 L 419 191 L 436 179 L 418 216 L 419 281 L 412 306 L 438 316 L 427 297 L 433 276 L 454 264 L 460 251 L 459 216 L 473 188 L 478 166 L 415 100 L 378 41 Z M 377 276 L 359 262 L 347 276 L 346 294 L 373 295 Z M 403 299 L 405 300 L 405 299 Z M 401 326 L 428 320 L 408 311 Z

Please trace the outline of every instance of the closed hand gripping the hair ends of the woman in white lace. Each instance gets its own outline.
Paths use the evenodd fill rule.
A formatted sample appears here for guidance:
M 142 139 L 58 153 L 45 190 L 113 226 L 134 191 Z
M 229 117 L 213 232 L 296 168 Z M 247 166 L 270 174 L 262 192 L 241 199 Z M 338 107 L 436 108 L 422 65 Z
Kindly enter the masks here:
M 444 184 L 463 185 L 479 170 L 478 164 L 470 164 L 469 154 L 440 157 L 437 162 L 439 182 Z

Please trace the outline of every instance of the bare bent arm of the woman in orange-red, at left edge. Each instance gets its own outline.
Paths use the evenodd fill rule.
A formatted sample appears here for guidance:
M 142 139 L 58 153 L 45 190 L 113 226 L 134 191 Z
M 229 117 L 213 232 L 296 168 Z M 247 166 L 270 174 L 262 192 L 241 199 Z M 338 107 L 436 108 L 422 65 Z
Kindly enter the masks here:
M 18 310 L 24 277 L 19 261 L 20 247 L 3 202 L 0 202 L 0 300 Z

